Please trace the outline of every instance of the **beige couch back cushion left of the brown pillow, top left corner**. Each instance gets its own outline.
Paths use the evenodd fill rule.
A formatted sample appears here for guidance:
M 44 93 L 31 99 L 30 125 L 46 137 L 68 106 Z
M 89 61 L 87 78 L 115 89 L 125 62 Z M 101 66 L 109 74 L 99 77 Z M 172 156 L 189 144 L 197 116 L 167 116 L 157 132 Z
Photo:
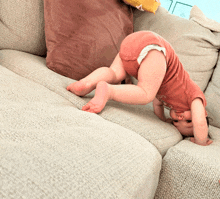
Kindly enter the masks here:
M 43 0 L 0 2 L 0 49 L 46 54 Z

